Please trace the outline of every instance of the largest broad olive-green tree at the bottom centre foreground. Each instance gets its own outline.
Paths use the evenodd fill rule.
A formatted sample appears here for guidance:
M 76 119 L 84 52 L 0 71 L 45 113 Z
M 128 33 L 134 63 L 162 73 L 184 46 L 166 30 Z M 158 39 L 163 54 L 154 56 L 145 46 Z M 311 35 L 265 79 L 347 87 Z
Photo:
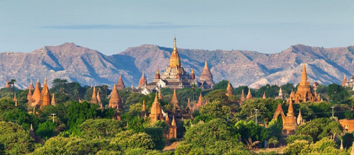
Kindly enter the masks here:
M 246 154 L 243 145 L 232 136 L 226 121 L 221 119 L 190 127 L 184 138 L 175 154 Z

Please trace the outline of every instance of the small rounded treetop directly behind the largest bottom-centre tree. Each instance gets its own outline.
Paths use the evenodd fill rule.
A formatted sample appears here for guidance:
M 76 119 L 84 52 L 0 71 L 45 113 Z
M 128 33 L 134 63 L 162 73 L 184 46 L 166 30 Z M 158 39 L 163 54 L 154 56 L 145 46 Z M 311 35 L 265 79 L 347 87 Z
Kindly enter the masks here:
M 222 105 L 219 101 L 212 101 L 200 108 L 200 114 L 214 118 L 224 118 L 229 116 L 230 108 L 227 105 Z

